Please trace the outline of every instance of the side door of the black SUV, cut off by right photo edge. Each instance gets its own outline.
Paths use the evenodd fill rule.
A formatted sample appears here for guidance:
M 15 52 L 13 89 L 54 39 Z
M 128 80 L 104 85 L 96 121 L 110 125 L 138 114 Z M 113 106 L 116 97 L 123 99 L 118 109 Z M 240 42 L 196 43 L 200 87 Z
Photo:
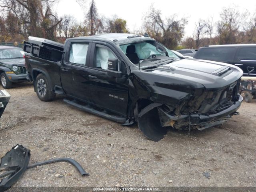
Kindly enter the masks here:
M 254 68 L 250 72 L 250 76 L 256 76 L 256 46 L 239 48 L 235 58 L 235 65 L 244 71 L 244 76 L 248 75 L 248 69 L 252 70 Z

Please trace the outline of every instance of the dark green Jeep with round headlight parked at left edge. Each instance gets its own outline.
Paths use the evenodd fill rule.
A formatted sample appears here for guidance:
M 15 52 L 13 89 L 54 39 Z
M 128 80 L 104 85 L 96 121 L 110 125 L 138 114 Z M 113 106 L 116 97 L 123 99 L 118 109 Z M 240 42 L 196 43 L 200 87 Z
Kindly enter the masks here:
M 0 80 L 5 89 L 13 83 L 27 81 L 23 50 L 14 46 L 0 46 Z

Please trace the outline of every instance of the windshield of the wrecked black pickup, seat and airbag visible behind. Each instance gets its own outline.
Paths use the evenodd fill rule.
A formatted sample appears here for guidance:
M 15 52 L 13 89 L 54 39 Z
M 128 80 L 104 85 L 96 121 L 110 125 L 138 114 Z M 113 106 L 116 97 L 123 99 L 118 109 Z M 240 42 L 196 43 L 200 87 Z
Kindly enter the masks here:
M 138 43 L 122 44 L 121 50 L 126 54 L 134 64 L 142 62 L 142 60 L 154 58 L 157 56 L 168 56 L 171 58 L 178 58 L 171 50 L 164 47 L 160 43 L 152 40 Z M 155 55 L 152 57 L 152 55 Z M 166 58 L 168 58 L 166 57 Z

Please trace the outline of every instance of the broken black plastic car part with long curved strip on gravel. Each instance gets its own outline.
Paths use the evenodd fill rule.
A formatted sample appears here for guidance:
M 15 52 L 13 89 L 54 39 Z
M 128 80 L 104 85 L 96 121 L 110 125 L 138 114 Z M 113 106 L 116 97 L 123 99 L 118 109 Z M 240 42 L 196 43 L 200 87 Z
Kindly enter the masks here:
M 2 178 L 0 180 L 0 192 L 10 188 L 27 169 L 55 162 L 69 162 L 77 168 L 82 176 L 89 175 L 78 162 L 71 158 L 56 158 L 28 165 L 29 160 L 30 150 L 19 144 L 14 146 L 1 158 L 0 172 L 6 172 L 0 174 L 0 179 Z

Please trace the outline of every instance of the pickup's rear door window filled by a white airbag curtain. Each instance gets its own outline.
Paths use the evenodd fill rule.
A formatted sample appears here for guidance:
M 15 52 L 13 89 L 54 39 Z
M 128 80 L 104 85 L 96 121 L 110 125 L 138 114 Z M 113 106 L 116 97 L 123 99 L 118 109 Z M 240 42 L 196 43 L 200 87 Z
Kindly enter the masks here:
M 72 43 L 70 48 L 69 62 L 85 65 L 86 54 L 89 44 Z

